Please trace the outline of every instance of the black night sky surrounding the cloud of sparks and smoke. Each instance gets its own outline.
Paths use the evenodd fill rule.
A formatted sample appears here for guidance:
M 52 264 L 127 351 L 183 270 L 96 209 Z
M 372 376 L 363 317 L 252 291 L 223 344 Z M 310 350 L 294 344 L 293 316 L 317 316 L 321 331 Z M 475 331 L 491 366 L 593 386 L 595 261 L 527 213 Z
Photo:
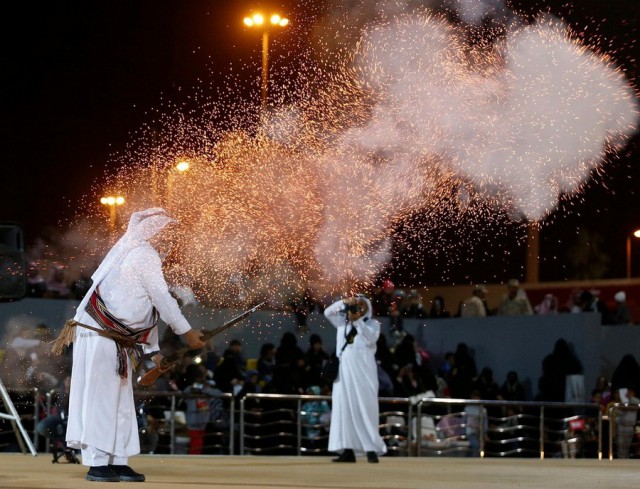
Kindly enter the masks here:
M 287 3 L 299 2 L 278 2 L 285 9 Z M 615 51 L 616 62 L 637 78 L 638 0 L 576 0 L 575 8 L 555 1 L 516 3 L 529 11 L 546 5 L 579 28 L 598 25 L 599 47 Z M 242 26 L 254 5 L 238 0 L 13 2 L 2 29 L 0 220 L 22 224 L 27 242 L 46 237 L 64 225 L 89 186 L 108 170 L 109 155 L 130 141 L 162 96 L 172 98 L 198 78 L 213 78 L 215 84 L 230 67 L 249 65 L 247 75 L 257 79 L 259 36 Z M 238 90 L 241 97 L 259 97 L 246 86 Z M 639 149 L 636 137 L 608 165 L 604 178 L 543 230 L 543 252 L 549 255 L 543 279 L 566 278 L 561 258 L 551 256 L 561 254 L 582 228 L 601 235 L 609 250 L 605 277 L 623 276 L 625 237 L 640 228 Z M 482 252 L 480 247 L 477 253 Z M 483 279 L 482 272 L 453 275 Z

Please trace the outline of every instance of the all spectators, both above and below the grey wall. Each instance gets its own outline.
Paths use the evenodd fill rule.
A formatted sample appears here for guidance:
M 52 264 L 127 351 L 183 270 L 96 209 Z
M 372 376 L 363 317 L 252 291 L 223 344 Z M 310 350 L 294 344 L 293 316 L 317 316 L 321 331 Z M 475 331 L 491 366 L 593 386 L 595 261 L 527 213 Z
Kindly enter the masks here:
M 45 278 L 37 263 L 29 263 L 29 297 L 80 299 L 91 283 L 91 279 L 85 274 L 69 281 L 65 267 L 58 264 L 49 267 L 47 275 Z M 448 309 L 443 296 L 435 296 L 430 303 L 425 303 L 420 291 L 404 291 L 396 288 L 388 279 L 381 281 L 380 286 L 373 291 L 372 304 L 375 315 L 389 318 L 391 337 L 387 338 L 381 334 L 378 340 L 376 360 L 379 395 L 412 398 L 431 392 L 440 398 L 525 400 L 525 391 L 518 378 L 517 366 L 514 366 L 514 370 L 500 382 L 494 378 L 491 366 L 482 366 L 482 369 L 478 370 L 472 353 L 464 343 L 460 343 L 455 352 L 446 352 L 440 364 L 434 366 L 430 353 L 425 351 L 411 334 L 404 331 L 405 319 L 435 320 L 450 317 L 599 312 L 603 324 L 631 323 L 624 291 L 615 295 L 614 309 L 610 309 L 599 299 L 597 292 L 592 290 L 572 292 L 565 304 L 561 304 L 555 295 L 546 294 L 539 304 L 532 306 L 525 290 L 515 279 L 507 282 L 505 293 L 497 307 L 489 307 L 487 294 L 487 287 L 475 286 L 469 297 L 451 310 Z M 313 300 L 310 294 L 305 293 L 294 299 L 290 306 L 291 312 L 298 319 L 298 332 L 304 333 L 307 332 L 308 315 L 314 310 L 322 311 L 323 303 Z M 38 325 L 36 328 L 22 328 L 11 339 L 2 362 L 2 379 L 7 385 L 37 387 L 43 392 L 64 386 L 70 358 L 67 356 L 62 360 L 56 360 L 49 355 L 46 343 L 50 341 L 50 336 L 51 331 L 47 326 Z M 163 351 L 170 352 L 182 345 L 180 338 L 173 335 L 168 328 L 161 346 Z M 220 436 L 221 427 L 228 423 L 228 418 L 224 416 L 224 406 L 216 397 L 217 394 L 230 393 L 238 399 L 247 393 L 259 392 L 329 395 L 331 386 L 323 381 L 321 370 L 331 354 L 332 352 L 325 351 L 322 339 L 316 334 L 310 335 L 307 346 L 301 346 L 294 333 L 284 333 L 278 345 L 263 344 L 259 357 L 249 360 L 243 354 L 240 340 L 232 340 L 222 355 L 218 355 L 210 343 L 204 354 L 187 355 L 175 370 L 168 372 L 158 381 L 154 390 L 188 394 L 183 408 L 190 413 L 186 421 L 190 437 L 195 440 L 190 450 L 191 453 L 206 453 L 203 452 L 203 447 L 211 445 L 209 441 L 212 434 Z M 627 357 L 629 356 L 631 355 Z M 625 362 L 633 364 L 635 359 L 632 356 L 632 360 L 627 357 Z M 19 368 L 7 368 L 8 365 L 17 365 Z M 637 362 L 635 367 L 637 368 Z M 619 366 L 619 369 L 621 368 L 622 365 Z M 622 370 L 632 373 L 627 374 L 625 380 L 621 381 L 622 374 L 618 372 L 619 369 L 616 369 L 611 382 L 607 382 L 606 379 L 600 380 L 592 392 L 592 399 L 594 402 L 601 402 L 603 409 L 615 401 L 637 401 L 640 375 L 633 373 L 633 365 L 627 365 Z M 560 402 L 567 400 L 567 377 L 581 374 L 580 362 L 572 355 L 569 345 L 564 340 L 559 340 L 554 351 L 542 360 L 542 376 L 539 379 L 536 399 Z M 309 413 L 317 414 L 311 409 L 311 405 L 308 407 Z M 325 410 L 326 406 L 321 407 Z M 489 416 L 492 414 L 500 413 L 492 413 L 489 410 Z M 157 426 L 163 416 L 163 409 L 147 412 L 144 415 L 144 424 L 147 428 Z M 631 414 L 628 417 L 630 418 Z M 326 419 L 326 416 L 323 419 Z M 627 423 L 631 426 L 634 424 L 635 421 Z M 317 435 L 317 431 L 322 432 L 325 428 L 316 425 L 317 423 L 314 423 L 314 434 Z M 616 434 L 616 439 L 625 440 L 625 436 L 628 438 L 628 434 L 621 428 L 620 433 Z M 622 443 L 619 450 L 624 453 L 627 445 L 624 441 Z

